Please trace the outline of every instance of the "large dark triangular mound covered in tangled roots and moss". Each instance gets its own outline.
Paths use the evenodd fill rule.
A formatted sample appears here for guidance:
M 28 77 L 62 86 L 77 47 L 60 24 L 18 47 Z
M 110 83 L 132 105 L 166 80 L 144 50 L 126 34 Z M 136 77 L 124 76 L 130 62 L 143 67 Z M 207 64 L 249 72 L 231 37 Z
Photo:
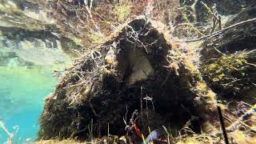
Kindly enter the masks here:
M 180 129 L 192 115 L 200 122 L 214 119 L 215 94 L 170 39 L 161 23 L 137 18 L 78 59 L 46 98 L 39 138 L 83 140 L 89 126 L 94 136 L 103 136 L 108 125 L 110 134 L 126 134 L 123 119 L 129 123 L 134 110 L 145 135 L 148 126 Z

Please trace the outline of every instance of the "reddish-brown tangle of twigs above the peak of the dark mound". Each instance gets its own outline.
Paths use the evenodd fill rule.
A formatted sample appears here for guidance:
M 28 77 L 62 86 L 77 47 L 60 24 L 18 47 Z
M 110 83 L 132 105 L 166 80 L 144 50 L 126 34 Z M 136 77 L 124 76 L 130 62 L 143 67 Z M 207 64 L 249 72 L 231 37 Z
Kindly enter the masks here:
M 62 35 L 85 46 L 86 52 L 106 42 L 108 35 L 137 15 L 154 16 L 166 24 L 174 22 L 179 5 L 178 0 L 51 0 L 38 3 L 49 10 Z

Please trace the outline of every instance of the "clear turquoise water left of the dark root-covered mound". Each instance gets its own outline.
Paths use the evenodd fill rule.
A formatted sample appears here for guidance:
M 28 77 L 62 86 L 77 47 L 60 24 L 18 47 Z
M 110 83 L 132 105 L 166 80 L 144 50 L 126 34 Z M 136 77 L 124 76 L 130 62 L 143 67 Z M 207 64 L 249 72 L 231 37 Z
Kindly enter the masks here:
M 37 137 L 38 116 L 42 113 L 44 98 L 58 83 L 53 70 L 59 67 L 20 66 L 13 60 L 9 59 L 8 65 L 0 62 L 0 118 L 10 133 L 16 127 L 14 143 L 19 144 Z M 0 127 L 0 144 L 6 140 L 7 134 Z

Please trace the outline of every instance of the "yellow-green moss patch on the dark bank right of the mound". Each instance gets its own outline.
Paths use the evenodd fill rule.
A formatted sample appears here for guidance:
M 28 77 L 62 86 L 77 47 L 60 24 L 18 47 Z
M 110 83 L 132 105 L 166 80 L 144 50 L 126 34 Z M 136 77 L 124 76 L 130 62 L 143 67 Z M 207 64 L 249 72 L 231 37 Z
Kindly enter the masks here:
M 249 58 L 245 52 L 222 55 L 203 64 L 201 70 L 211 85 L 238 92 L 250 85 L 250 70 L 255 66 L 247 62 Z

